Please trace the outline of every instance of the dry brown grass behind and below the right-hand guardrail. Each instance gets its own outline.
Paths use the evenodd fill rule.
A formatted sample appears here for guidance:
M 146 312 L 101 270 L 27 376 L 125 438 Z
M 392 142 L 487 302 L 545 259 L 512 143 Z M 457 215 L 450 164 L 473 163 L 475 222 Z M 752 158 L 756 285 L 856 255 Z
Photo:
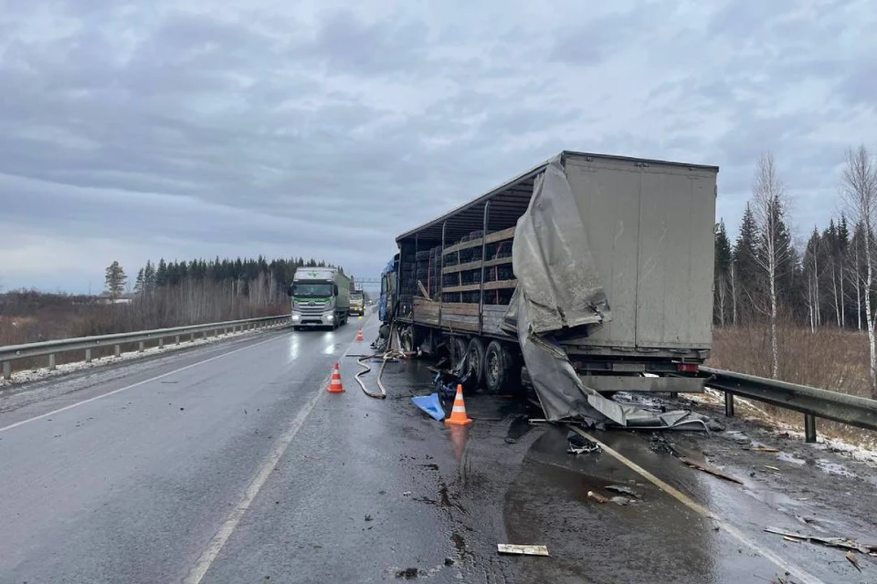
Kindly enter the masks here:
M 779 379 L 829 391 L 871 397 L 868 336 L 865 333 L 786 326 L 779 329 Z M 711 367 L 770 377 L 771 349 L 767 327 L 722 328 L 713 332 Z M 803 416 L 766 404 L 772 417 L 803 428 Z M 871 443 L 874 433 L 819 420 L 819 433 L 851 443 Z

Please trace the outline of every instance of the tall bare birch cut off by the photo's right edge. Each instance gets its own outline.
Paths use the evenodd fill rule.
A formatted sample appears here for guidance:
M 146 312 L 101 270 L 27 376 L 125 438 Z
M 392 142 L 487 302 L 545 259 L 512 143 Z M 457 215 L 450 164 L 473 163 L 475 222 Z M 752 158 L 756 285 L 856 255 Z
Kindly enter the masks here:
M 855 221 L 861 222 L 862 249 L 865 255 L 865 273 L 862 278 L 862 302 L 865 305 L 865 326 L 868 328 L 869 370 L 871 393 L 877 399 L 877 348 L 874 340 L 874 313 L 871 306 L 871 289 L 874 283 L 872 263 L 872 227 L 877 212 L 877 162 L 871 153 L 860 146 L 847 151 L 846 165 L 841 180 L 841 196 Z M 863 276 L 863 277 L 862 277 Z

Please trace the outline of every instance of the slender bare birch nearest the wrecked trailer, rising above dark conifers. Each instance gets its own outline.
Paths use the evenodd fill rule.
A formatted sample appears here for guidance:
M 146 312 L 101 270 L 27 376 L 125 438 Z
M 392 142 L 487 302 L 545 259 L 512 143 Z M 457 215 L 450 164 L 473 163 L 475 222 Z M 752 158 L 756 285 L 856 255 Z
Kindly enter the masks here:
M 787 196 L 777 176 L 777 166 L 770 152 L 762 155 L 755 169 L 752 187 L 753 212 L 758 225 L 759 253 L 755 262 L 766 276 L 767 316 L 770 319 L 771 372 L 779 375 L 779 343 L 777 340 L 777 278 L 790 257 L 791 245 L 783 215 Z

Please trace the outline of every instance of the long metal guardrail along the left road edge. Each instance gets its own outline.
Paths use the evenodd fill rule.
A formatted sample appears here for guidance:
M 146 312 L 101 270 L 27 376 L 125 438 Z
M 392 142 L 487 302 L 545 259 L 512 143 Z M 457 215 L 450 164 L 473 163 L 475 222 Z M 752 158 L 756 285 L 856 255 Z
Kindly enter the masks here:
M 138 343 L 138 351 L 143 352 L 147 341 L 157 341 L 158 347 L 164 347 L 164 339 L 174 337 L 174 344 L 179 345 L 180 339 L 185 335 L 190 340 L 195 340 L 196 334 L 202 334 L 204 338 L 210 332 L 222 330 L 224 333 L 231 329 L 232 332 L 239 330 L 251 330 L 266 328 L 289 322 L 290 315 L 263 318 L 245 318 L 243 320 L 227 320 L 225 322 L 211 322 L 203 325 L 189 327 L 157 328 L 154 330 L 138 330 L 135 332 L 122 332 L 112 335 L 100 335 L 95 337 L 79 337 L 76 339 L 46 340 L 37 343 L 22 345 L 7 345 L 0 347 L 0 362 L 3 363 L 3 379 L 12 379 L 12 362 L 28 357 L 45 357 L 48 355 L 48 368 L 55 369 L 55 355 L 72 350 L 85 350 L 85 361 L 91 362 L 91 349 L 100 347 L 112 347 L 113 355 L 119 357 L 122 354 L 122 345 Z

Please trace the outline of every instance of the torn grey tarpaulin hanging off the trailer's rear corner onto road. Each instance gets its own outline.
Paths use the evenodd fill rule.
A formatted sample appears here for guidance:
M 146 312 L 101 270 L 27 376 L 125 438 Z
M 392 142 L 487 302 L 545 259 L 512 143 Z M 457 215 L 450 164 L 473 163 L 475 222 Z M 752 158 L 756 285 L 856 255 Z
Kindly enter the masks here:
M 552 422 L 586 425 L 610 420 L 624 427 L 677 428 L 705 419 L 691 412 L 648 412 L 608 400 L 579 378 L 553 337 L 570 328 L 611 320 L 585 225 L 559 157 L 536 181 L 530 206 L 518 220 L 512 243 L 518 279 L 502 328 L 516 335 L 536 396 Z

